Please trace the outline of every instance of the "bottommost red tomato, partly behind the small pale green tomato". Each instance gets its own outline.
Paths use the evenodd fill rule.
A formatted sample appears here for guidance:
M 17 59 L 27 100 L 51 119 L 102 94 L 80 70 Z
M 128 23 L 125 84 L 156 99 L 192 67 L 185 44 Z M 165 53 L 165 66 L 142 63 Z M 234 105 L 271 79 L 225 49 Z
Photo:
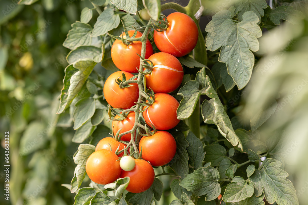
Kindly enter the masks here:
M 132 193 L 140 193 L 152 186 L 155 173 L 153 167 L 147 161 L 135 159 L 135 162 L 135 168 L 132 171 L 123 170 L 120 178 L 128 176 L 130 180 L 126 190 Z

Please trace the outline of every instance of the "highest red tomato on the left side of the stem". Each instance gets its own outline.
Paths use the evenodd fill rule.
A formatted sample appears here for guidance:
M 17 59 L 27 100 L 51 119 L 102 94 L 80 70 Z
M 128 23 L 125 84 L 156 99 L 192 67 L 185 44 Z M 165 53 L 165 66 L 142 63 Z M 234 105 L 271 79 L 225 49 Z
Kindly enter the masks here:
M 130 37 L 134 34 L 134 30 L 128 31 Z M 120 37 L 122 34 L 120 35 Z M 141 37 L 142 33 L 137 31 L 136 38 Z M 125 33 L 123 33 L 125 38 Z M 130 45 L 123 44 L 120 40 L 115 40 L 111 47 L 111 59 L 116 67 L 120 70 L 127 71 L 130 73 L 138 73 L 140 65 L 141 55 L 141 41 L 132 41 Z M 145 58 L 147 59 L 153 54 L 153 47 L 151 42 L 147 39 L 147 45 L 145 50 Z

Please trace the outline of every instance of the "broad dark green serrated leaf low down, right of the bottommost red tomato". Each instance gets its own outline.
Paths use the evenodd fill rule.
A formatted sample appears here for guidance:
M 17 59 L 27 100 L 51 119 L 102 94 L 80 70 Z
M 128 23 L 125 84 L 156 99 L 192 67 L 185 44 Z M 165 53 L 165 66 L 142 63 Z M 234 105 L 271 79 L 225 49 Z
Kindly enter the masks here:
M 205 200 L 216 199 L 221 192 L 218 183 L 220 177 L 217 169 L 213 167 L 201 167 L 193 173 L 188 174 L 181 182 L 180 186 L 192 191 L 196 196 L 206 195 Z

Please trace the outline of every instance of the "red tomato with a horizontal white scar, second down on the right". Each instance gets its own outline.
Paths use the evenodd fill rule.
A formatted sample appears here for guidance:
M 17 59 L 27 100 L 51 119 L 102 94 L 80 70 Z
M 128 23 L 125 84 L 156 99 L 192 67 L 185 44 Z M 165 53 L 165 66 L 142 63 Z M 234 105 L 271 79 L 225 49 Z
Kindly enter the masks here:
M 182 83 L 184 72 L 180 61 L 169 53 L 154 53 L 148 58 L 153 62 L 151 74 L 145 75 L 147 88 L 154 93 L 170 93 Z

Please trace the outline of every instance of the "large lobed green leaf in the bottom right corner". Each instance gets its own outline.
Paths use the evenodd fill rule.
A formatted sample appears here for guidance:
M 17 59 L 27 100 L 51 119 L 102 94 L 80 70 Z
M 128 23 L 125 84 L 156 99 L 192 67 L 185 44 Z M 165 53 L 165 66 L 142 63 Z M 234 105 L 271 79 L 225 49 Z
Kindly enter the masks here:
M 263 161 L 263 168 L 255 170 L 248 178 L 255 195 L 261 196 L 263 192 L 270 204 L 299 204 L 292 182 L 286 179 L 289 174 L 280 167 L 278 160 L 267 158 Z

